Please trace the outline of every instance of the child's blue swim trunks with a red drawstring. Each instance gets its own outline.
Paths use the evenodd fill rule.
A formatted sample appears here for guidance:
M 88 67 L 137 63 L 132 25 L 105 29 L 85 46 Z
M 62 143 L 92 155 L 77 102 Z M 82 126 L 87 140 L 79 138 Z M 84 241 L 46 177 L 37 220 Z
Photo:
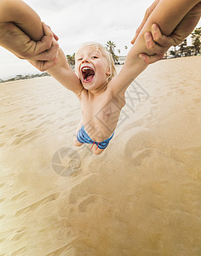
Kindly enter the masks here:
M 112 137 L 114 136 L 114 132 L 112 133 L 111 137 L 108 137 L 105 141 L 102 141 L 100 143 L 93 141 L 87 132 L 85 131 L 84 127 L 82 126 L 77 134 L 77 139 L 79 143 L 89 143 L 93 144 L 91 148 L 93 148 L 94 144 L 97 145 L 97 148 L 104 149 L 108 146 L 109 142 L 112 140 Z

